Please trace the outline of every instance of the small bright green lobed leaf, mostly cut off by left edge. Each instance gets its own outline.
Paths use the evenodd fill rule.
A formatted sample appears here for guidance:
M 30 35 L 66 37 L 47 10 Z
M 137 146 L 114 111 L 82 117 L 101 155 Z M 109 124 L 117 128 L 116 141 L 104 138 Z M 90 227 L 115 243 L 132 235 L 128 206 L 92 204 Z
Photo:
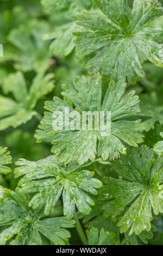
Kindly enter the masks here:
M 7 148 L 0 147 L 0 173 L 1 174 L 8 174 L 12 170 L 5 166 L 5 164 L 9 164 L 12 161 L 12 157 L 10 156 L 10 151 L 7 151 Z

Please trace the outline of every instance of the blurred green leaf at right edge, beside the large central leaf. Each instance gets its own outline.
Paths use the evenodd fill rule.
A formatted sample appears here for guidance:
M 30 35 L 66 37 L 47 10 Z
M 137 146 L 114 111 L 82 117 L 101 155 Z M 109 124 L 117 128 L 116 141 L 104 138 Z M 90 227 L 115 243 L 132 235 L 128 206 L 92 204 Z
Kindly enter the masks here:
M 156 122 L 163 124 L 163 105 L 159 104 L 158 96 L 155 92 L 151 95 L 143 94 L 140 97 L 141 117 L 148 118 L 144 121 L 146 131 L 154 129 Z

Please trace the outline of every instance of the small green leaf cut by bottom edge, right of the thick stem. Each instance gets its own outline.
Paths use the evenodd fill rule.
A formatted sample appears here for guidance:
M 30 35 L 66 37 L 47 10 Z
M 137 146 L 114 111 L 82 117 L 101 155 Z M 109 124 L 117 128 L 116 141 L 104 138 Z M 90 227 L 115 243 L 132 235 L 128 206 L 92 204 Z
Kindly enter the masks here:
M 100 232 L 97 228 L 92 227 L 86 231 L 89 245 L 119 245 L 115 233 L 109 233 L 102 228 Z

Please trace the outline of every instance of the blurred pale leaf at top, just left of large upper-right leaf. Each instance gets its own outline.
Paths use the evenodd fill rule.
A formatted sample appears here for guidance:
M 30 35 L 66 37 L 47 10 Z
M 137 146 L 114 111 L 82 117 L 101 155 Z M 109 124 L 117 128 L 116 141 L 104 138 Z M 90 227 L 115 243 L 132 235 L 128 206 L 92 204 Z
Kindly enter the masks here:
M 57 21 L 59 25 L 55 27 L 53 32 L 44 35 L 44 39 L 55 39 L 50 46 L 51 51 L 57 56 L 67 56 L 75 46 L 72 32 L 79 30 L 79 26 L 76 24 L 76 15 L 84 10 L 91 10 L 92 1 L 42 0 L 41 2 L 47 13 L 52 15 L 52 18 L 57 15 L 58 19 L 61 19 L 60 22 Z M 94 10 L 94 8 L 92 9 Z

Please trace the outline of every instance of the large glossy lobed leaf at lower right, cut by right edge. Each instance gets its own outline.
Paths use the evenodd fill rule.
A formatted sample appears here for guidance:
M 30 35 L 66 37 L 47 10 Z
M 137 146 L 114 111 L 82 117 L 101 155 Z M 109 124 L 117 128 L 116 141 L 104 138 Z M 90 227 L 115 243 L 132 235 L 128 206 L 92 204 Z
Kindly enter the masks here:
M 139 149 L 128 149 L 128 156 L 113 161 L 111 168 L 122 178 L 104 178 L 105 183 L 101 199 L 109 200 L 103 206 L 105 216 L 117 216 L 125 210 L 118 222 L 121 233 L 130 227 L 129 235 L 139 235 L 143 230 L 151 230 L 155 215 L 162 209 L 162 157 L 154 155 L 153 149 L 142 146 Z M 111 200 L 110 200 L 111 199 Z

